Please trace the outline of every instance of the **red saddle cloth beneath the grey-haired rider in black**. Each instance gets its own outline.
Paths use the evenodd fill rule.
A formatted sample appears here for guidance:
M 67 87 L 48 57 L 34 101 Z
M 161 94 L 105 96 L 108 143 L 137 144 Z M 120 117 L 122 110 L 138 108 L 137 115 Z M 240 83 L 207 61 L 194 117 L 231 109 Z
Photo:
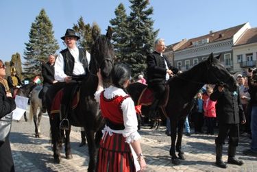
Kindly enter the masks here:
M 164 97 L 160 99 L 159 107 L 162 110 L 164 116 L 167 117 L 167 112 L 165 107 L 169 101 L 169 86 L 165 86 Z M 154 102 L 154 90 L 151 88 L 146 87 L 138 98 L 138 102 L 136 103 L 136 113 L 141 113 L 141 106 L 150 106 Z

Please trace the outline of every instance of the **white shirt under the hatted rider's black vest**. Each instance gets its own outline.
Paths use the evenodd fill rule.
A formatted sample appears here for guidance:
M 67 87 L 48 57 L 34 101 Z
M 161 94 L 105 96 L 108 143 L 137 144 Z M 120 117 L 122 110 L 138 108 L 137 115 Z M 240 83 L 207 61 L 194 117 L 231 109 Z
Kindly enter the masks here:
M 68 48 L 69 49 L 69 48 Z M 79 49 L 75 47 L 74 49 L 69 49 L 71 55 L 74 58 L 74 69 L 73 69 L 73 75 L 84 75 L 86 74 L 86 71 L 84 70 L 84 67 L 82 63 L 79 61 Z M 90 62 L 90 53 L 86 51 L 86 58 L 88 60 L 88 64 Z M 54 78 L 58 82 L 64 82 L 64 78 L 67 75 L 64 73 L 64 60 L 62 53 L 59 53 L 58 57 L 56 58 L 56 64 L 54 66 Z

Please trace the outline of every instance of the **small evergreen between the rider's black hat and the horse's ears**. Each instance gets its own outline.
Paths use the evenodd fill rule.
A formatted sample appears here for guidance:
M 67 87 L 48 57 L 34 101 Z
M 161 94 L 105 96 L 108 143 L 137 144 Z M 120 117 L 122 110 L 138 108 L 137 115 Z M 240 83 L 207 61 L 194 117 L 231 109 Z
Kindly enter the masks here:
M 92 28 L 90 27 L 90 24 L 86 24 L 83 17 L 80 16 L 77 24 L 73 24 L 73 29 L 77 33 L 77 36 L 80 37 L 80 39 L 77 41 L 79 44 L 78 46 L 86 49 L 86 51 L 90 53 L 90 47 L 93 44 L 93 38 L 91 34 Z

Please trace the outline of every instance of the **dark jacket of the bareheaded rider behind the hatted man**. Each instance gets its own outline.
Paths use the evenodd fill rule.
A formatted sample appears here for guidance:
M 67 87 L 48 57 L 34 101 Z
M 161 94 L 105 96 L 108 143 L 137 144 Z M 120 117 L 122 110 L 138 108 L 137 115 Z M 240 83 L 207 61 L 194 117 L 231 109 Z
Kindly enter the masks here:
M 42 77 L 44 78 L 44 85 L 52 85 L 54 79 L 54 65 L 51 66 L 49 62 L 42 64 Z

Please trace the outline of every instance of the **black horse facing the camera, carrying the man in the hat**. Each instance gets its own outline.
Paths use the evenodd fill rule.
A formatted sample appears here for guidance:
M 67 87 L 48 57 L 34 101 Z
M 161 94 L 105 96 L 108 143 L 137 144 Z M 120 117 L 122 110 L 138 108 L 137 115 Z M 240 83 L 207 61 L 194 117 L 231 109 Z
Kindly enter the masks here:
M 99 104 L 95 101 L 94 93 L 97 90 L 98 78 L 97 71 L 101 69 L 103 82 L 110 82 L 110 72 L 113 66 L 114 50 L 110 43 L 112 38 L 112 29 L 108 27 L 106 36 L 99 35 L 93 30 L 94 44 L 91 49 L 90 64 L 88 75 L 83 79 L 79 88 L 79 102 L 77 107 L 69 112 L 69 122 L 71 125 L 77 127 L 84 127 L 86 131 L 86 138 L 88 140 L 89 164 L 88 171 L 95 171 L 96 165 L 96 150 L 99 140 L 101 140 L 101 130 L 103 119 L 99 113 Z M 60 163 L 62 150 L 62 134 L 60 130 L 60 113 L 50 114 L 50 106 L 47 105 L 47 112 L 49 114 L 51 125 L 51 140 L 53 145 L 53 158 L 55 162 Z M 71 125 L 69 130 L 65 130 L 65 155 L 67 159 L 72 158 L 71 145 L 69 134 L 71 132 Z M 96 133 L 96 136 L 95 136 Z

